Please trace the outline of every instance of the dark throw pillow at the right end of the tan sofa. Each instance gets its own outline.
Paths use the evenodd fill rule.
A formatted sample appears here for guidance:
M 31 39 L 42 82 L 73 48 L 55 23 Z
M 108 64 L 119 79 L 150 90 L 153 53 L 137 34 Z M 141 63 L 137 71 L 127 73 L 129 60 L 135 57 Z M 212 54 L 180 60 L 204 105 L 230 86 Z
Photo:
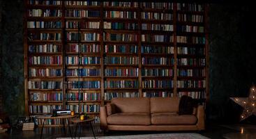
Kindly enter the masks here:
M 193 114 L 193 98 L 183 95 L 179 101 L 179 115 Z

